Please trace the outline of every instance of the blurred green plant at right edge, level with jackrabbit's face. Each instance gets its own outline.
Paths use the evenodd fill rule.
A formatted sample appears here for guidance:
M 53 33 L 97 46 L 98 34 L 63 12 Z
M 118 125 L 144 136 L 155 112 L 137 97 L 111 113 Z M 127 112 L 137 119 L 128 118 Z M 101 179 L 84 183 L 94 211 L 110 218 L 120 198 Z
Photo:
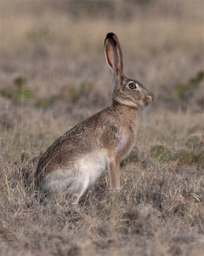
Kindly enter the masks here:
M 201 71 L 196 74 L 195 78 L 190 79 L 186 83 L 177 85 L 177 89 L 173 92 L 173 97 L 176 99 L 183 99 L 186 93 L 190 90 L 195 90 L 204 78 L 204 72 Z

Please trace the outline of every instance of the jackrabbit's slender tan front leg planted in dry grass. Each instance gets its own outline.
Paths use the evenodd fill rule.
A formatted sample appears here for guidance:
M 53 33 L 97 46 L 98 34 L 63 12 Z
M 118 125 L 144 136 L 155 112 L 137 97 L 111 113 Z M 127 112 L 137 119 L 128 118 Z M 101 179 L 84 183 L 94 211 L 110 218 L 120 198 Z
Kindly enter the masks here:
M 111 179 L 111 189 L 120 189 L 120 163 L 116 160 L 111 160 L 109 163 L 109 173 Z

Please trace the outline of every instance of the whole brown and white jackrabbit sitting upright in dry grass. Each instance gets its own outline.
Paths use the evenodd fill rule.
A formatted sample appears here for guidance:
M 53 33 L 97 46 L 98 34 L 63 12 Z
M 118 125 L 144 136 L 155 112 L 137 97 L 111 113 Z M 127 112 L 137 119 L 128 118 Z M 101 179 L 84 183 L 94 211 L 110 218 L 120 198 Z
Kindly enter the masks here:
M 59 137 L 37 166 L 37 186 L 46 194 L 72 195 L 74 203 L 106 169 L 111 189 L 119 189 L 120 163 L 135 142 L 138 108 L 154 99 L 142 84 L 123 75 L 122 49 L 112 32 L 105 38 L 105 56 L 113 73 L 111 107 Z

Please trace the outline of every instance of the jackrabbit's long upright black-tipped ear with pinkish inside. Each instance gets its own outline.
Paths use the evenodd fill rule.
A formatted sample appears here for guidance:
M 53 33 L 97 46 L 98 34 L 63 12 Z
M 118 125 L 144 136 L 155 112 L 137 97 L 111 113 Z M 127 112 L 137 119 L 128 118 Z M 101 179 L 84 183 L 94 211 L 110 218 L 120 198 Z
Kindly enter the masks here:
M 122 76 L 122 49 L 114 33 L 108 33 L 105 38 L 105 56 L 115 77 Z

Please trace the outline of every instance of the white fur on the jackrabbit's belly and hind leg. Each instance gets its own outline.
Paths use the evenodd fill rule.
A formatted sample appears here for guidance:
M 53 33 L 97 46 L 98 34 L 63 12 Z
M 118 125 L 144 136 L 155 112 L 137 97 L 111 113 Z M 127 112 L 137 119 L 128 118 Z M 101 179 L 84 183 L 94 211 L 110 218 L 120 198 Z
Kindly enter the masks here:
M 105 172 L 108 161 L 105 149 L 88 153 L 76 163 L 67 166 L 67 169 L 48 173 L 41 188 L 45 193 L 60 191 L 78 197 Z

